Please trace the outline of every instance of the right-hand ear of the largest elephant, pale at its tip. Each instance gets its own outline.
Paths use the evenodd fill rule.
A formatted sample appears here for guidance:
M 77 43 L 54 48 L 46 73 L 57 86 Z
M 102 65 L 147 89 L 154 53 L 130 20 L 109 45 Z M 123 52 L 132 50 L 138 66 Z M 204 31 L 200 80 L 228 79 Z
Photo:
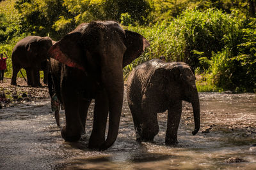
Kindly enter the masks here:
M 144 52 L 145 48 L 150 46 L 147 39 L 141 36 L 141 34 L 128 30 L 125 30 L 124 44 L 127 49 L 124 53 L 123 67 L 130 64 L 132 60 L 138 58 L 141 53 Z

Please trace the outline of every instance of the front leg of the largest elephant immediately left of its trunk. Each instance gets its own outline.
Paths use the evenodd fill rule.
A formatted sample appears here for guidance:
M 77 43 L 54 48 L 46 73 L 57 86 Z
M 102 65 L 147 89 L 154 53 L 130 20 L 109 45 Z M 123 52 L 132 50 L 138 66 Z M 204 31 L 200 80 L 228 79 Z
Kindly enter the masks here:
M 99 148 L 104 143 L 108 111 L 108 96 L 103 90 L 98 92 L 95 97 L 93 129 L 89 139 L 89 148 Z

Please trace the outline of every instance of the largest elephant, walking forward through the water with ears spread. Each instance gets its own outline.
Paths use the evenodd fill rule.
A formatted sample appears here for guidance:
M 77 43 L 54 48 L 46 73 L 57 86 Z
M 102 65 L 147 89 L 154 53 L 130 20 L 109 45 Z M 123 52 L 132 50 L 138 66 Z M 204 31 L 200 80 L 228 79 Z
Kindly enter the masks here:
M 88 106 L 95 99 L 89 147 L 106 150 L 115 143 L 124 96 L 122 69 L 147 46 L 147 39 L 116 22 L 97 21 L 79 25 L 50 48 L 54 89 L 65 108 L 61 136 L 66 141 L 81 138 Z

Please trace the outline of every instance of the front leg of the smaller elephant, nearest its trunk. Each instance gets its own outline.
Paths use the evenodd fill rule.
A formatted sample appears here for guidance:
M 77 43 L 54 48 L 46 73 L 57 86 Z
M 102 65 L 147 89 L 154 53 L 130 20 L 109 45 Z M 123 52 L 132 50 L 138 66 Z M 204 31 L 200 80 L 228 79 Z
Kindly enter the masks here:
M 175 145 L 178 143 L 177 132 L 180 124 L 182 112 L 182 101 L 178 101 L 168 109 L 167 130 L 165 136 L 166 145 Z

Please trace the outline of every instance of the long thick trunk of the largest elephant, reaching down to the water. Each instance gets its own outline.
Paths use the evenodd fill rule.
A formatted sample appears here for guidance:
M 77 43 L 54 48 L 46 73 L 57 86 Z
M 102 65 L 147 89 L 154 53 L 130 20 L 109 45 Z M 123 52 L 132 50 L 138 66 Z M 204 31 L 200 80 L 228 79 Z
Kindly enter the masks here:
M 100 146 L 99 150 L 108 149 L 118 135 L 120 116 L 124 97 L 124 77 L 122 66 L 115 71 L 104 71 L 102 80 L 108 94 L 109 102 L 109 128 L 106 141 Z

